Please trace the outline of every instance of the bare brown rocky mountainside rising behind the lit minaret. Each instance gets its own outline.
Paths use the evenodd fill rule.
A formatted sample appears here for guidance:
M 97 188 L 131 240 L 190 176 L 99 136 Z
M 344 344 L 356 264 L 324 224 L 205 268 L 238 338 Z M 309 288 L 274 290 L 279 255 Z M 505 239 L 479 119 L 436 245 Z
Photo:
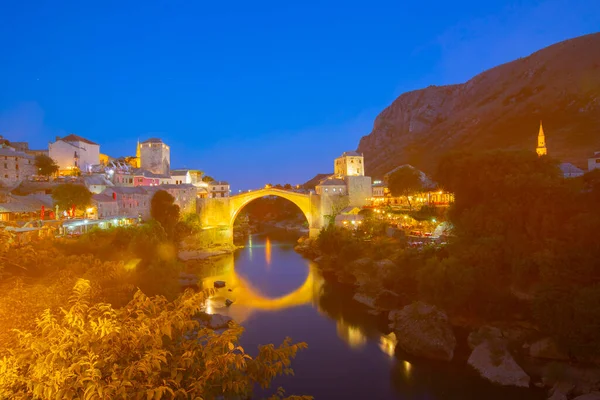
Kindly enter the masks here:
M 535 150 L 583 167 L 600 150 L 600 33 L 567 40 L 466 83 L 402 94 L 375 119 L 358 152 L 380 177 L 409 163 L 431 172 L 452 150 Z

